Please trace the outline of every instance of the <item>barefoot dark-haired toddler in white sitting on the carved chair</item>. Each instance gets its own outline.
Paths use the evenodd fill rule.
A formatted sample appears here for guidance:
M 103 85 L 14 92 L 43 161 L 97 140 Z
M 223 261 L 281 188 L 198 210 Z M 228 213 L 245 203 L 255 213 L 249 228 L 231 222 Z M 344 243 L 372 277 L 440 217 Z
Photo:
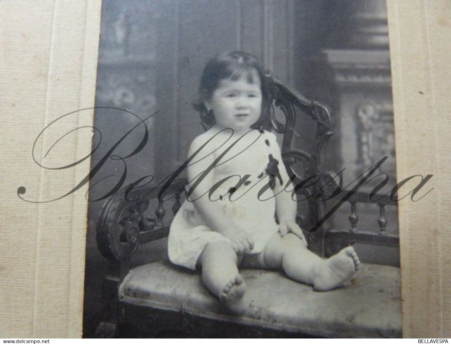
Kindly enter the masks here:
M 206 132 L 189 147 L 189 196 L 170 227 L 171 262 L 200 267 L 206 287 L 235 313 L 246 291 L 238 267 L 283 270 L 317 291 L 341 286 L 359 258 L 352 247 L 327 260 L 308 251 L 276 136 L 261 129 L 271 104 L 258 61 L 244 52 L 212 58 L 199 92 Z

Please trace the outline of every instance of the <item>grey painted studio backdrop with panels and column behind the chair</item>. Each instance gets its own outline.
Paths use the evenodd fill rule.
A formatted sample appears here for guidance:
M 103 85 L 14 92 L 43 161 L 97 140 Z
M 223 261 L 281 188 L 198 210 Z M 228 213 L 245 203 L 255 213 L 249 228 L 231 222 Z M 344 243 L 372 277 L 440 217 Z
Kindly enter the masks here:
M 324 159 L 326 169 L 345 168 L 345 181 L 352 181 L 387 156 L 381 171 L 389 175 L 389 185 L 396 184 L 385 1 L 110 0 L 102 5 L 96 106 L 127 109 L 141 118 L 158 112 L 146 121 L 146 146 L 127 160 L 124 185 L 147 175 L 161 180 L 183 163 L 190 142 L 203 131 L 191 105 L 202 68 L 212 56 L 231 50 L 257 56 L 279 79 L 328 107 L 335 134 Z M 98 109 L 95 126 L 103 141 L 92 165 L 110 149 L 106 140 L 118 141 L 137 123 L 133 116 Z M 297 123 L 299 147 L 312 141 L 310 126 Z M 133 150 L 142 135 L 137 130 L 128 137 L 120 147 L 122 153 Z M 120 168 L 120 162 L 108 161 L 91 185 Z M 113 177 L 92 186 L 90 198 L 101 197 L 116 182 Z M 89 205 L 85 337 L 94 334 L 104 316 L 101 279 L 108 262 L 95 238 L 102 204 Z M 377 206 L 359 205 L 356 227 L 366 228 L 372 221 L 370 227 L 377 230 L 375 212 Z M 350 205 L 345 203 L 327 226 L 351 228 L 349 216 Z M 397 235 L 396 208 L 387 208 L 386 219 L 387 233 Z M 399 266 L 397 248 L 355 248 L 363 262 Z M 140 247 L 133 264 L 165 258 L 162 239 Z

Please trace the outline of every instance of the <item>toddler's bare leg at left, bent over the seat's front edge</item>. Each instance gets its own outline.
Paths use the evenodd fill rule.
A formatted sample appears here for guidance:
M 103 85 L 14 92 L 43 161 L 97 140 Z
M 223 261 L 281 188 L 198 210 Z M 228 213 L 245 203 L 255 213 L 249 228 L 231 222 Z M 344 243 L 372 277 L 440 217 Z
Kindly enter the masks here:
M 235 251 L 226 242 L 208 244 L 199 257 L 202 281 L 230 311 L 244 311 L 243 296 L 246 284 L 239 274 Z

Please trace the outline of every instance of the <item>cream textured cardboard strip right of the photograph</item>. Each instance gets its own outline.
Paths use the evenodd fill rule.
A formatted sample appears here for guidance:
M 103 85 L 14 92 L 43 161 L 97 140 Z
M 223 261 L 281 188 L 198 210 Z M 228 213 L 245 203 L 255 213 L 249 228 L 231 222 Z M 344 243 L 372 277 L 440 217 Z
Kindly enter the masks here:
M 451 336 L 451 3 L 388 1 L 398 180 L 434 190 L 399 205 L 406 338 Z

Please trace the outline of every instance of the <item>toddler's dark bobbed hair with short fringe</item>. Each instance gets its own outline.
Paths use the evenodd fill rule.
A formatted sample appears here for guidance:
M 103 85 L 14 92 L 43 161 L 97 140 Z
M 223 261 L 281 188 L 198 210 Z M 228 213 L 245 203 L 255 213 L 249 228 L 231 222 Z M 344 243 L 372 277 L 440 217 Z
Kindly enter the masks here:
M 193 107 L 199 112 L 204 129 L 207 130 L 215 124 L 215 117 L 212 111 L 208 111 L 205 107 L 205 101 L 211 99 L 219 82 L 222 79 L 238 80 L 246 77 L 247 81 L 252 84 L 255 81 L 254 70 L 258 73 L 262 88 L 262 116 L 253 127 L 261 126 L 260 122 L 265 116 L 270 102 L 265 72 L 254 56 L 243 51 L 231 51 L 214 56 L 202 71 L 199 98 L 193 103 Z

